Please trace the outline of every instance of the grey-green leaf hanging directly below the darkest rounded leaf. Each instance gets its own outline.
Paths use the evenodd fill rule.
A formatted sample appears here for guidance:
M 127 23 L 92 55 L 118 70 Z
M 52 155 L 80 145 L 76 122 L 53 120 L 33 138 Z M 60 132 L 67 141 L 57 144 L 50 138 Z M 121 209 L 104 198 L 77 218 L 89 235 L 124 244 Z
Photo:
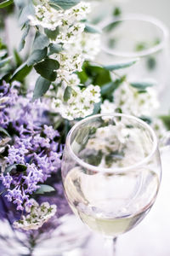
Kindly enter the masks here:
M 48 91 L 50 84 L 50 81 L 47 79 L 39 77 L 34 88 L 33 101 L 43 96 Z

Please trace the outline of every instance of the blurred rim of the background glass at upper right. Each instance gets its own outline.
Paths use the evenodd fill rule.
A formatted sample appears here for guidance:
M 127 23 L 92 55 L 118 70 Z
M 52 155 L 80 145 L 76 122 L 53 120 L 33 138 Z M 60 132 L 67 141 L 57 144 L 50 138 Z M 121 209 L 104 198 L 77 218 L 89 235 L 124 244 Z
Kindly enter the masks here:
M 126 51 L 126 50 L 124 50 L 124 51 L 123 50 L 114 50 L 114 49 L 111 50 L 108 47 L 105 47 L 104 45 L 101 44 L 101 48 L 106 53 L 111 54 L 111 55 L 116 55 L 119 57 L 135 58 L 135 57 L 144 57 L 146 55 L 151 55 L 151 54 L 154 54 L 154 53 L 158 52 L 159 50 L 163 49 L 163 47 L 165 46 L 165 44 L 167 42 L 167 38 L 169 38 L 169 32 L 168 32 L 167 26 L 161 20 L 158 20 L 153 16 L 142 15 L 142 14 L 122 15 L 119 18 L 116 18 L 116 19 L 110 18 L 108 20 L 105 20 L 103 23 L 101 22 L 99 27 L 100 27 L 100 30 L 102 31 L 103 29 L 105 29 L 106 26 L 109 26 L 111 23 L 114 23 L 117 21 L 127 21 L 127 20 L 145 21 L 145 22 L 148 22 L 148 23 L 152 24 L 153 26 L 156 26 L 157 28 L 159 28 L 163 35 L 160 43 L 156 44 L 155 46 L 150 47 L 149 49 L 144 49 L 139 52 Z

